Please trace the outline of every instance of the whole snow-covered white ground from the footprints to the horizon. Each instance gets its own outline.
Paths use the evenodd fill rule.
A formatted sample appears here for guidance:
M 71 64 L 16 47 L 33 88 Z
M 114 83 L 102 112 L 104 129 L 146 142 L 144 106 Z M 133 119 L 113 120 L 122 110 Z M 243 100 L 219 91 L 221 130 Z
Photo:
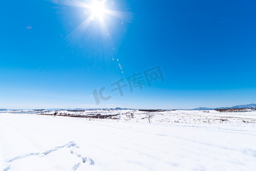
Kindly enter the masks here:
M 256 112 L 3 111 L 0 163 L 1 170 L 256 170 Z

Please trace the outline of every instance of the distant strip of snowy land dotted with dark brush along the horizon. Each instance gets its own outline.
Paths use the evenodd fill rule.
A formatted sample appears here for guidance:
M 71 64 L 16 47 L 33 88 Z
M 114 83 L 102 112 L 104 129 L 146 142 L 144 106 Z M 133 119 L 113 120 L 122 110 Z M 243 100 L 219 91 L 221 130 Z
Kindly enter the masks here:
M 185 111 L 185 110 L 58 110 L 58 111 L 40 111 L 38 115 L 53 115 L 67 117 L 82 117 L 86 120 L 108 120 L 113 122 L 129 123 L 184 123 L 184 124 L 241 124 L 256 123 L 256 111 L 250 109 L 241 112 L 225 113 L 214 110 L 203 111 Z

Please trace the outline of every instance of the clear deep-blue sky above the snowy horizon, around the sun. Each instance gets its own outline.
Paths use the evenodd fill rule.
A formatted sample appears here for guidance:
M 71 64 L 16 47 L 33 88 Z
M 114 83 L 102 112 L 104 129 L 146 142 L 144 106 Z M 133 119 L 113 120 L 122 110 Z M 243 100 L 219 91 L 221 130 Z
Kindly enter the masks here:
M 83 30 L 92 10 L 67 2 L 1 3 L 0 108 L 256 103 L 255 1 L 107 1 L 118 16 L 103 14 L 105 27 L 95 16 Z M 111 91 L 157 66 L 164 82 Z M 96 105 L 92 92 L 101 87 L 111 99 Z

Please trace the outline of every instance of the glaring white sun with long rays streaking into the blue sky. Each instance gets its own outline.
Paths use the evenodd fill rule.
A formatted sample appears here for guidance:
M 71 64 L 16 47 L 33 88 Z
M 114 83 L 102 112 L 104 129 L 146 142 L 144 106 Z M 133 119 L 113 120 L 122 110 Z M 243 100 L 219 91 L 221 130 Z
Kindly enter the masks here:
M 89 4 L 78 1 L 78 0 L 59 0 L 58 2 L 62 5 L 80 7 L 80 8 L 89 10 L 91 12 L 89 17 L 85 21 L 83 21 L 78 27 L 76 27 L 70 34 L 68 34 L 66 38 L 64 38 L 64 40 L 68 40 L 68 42 L 73 42 L 73 43 L 76 42 L 76 40 L 81 38 L 83 32 L 86 31 L 87 27 L 90 26 L 91 22 L 96 19 L 97 21 L 99 21 L 100 33 L 101 33 L 104 54 L 105 54 L 105 61 L 106 62 L 109 60 L 115 61 L 115 63 L 119 65 L 119 68 L 120 68 L 119 71 L 121 71 L 121 73 L 123 74 L 123 77 L 125 78 L 125 75 L 123 72 L 123 66 L 121 66 L 120 60 L 117 58 L 117 51 L 115 50 L 115 46 L 113 45 L 111 36 L 109 35 L 107 25 L 104 22 L 104 15 L 109 15 L 111 17 L 121 19 L 122 20 L 121 23 L 123 24 L 123 20 L 125 21 L 133 20 L 132 13 L 124 13 L 121 11 L 105 9 L 105 3 L 107 2 L 107 0 L 102 0 L 102 1 L 91 0 L 91 3 Z

